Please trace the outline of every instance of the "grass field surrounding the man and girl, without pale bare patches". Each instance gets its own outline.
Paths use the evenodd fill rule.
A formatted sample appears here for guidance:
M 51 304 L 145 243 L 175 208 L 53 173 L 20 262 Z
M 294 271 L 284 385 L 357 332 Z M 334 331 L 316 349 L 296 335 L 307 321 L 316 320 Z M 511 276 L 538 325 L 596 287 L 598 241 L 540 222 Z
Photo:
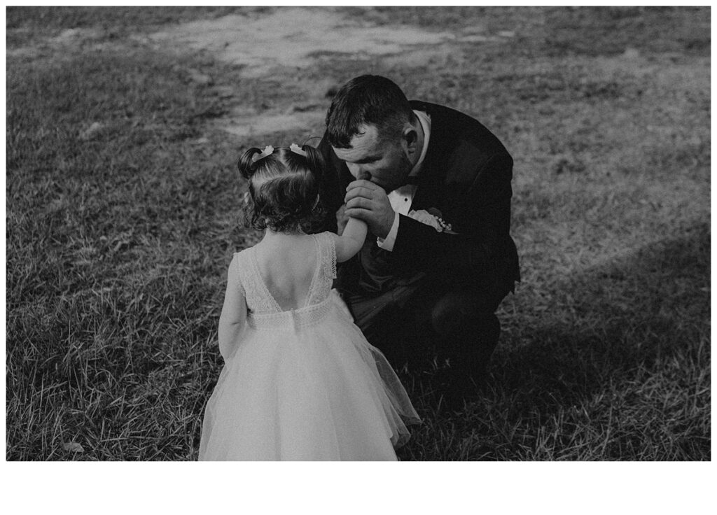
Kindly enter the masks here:
M 233 11 L 8 9 L 6 459 L 196 458 L 226 266 L 258 237 L 234 160 L 265 144 L 217 122 L 289 107 L 327 69 L 465 110 L 516 159 L 523 283 L 488 389 L 449 412 L 440 363 L 404 367 L 425 423 L 399 456 L 711 459 L 706 8 L 362 10 L 516 35 L 413 64 L 328 55 L 287 87 L 130 37 Z M 79 43 L 50 39 L 75 28 Z

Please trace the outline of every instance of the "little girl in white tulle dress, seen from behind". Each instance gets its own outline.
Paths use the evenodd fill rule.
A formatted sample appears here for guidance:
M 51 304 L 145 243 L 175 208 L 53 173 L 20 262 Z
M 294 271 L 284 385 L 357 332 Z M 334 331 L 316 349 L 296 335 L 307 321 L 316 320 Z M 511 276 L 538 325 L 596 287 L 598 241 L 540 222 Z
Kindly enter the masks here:
M 234 254 L 219 317 L 224 368 L 206 405 L 200 460 L 396 460 L 419 423 L 381 352 L 335 290 L 336 261 L 366 224 L 307 234 L 318 216 L 318 150 L 247 150 L 247 222 L 262 241 Z M 405 418 L 402 420 L 402 417 Z

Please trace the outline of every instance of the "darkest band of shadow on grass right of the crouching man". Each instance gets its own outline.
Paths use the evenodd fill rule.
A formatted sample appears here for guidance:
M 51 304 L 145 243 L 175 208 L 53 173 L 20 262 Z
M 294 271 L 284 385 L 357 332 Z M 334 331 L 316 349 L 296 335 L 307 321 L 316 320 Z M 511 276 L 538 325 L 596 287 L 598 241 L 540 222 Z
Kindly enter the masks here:
M 508 389 L 534 384 L 569 400 L 575 385 L 590 393 L 653 367 L 706 334 L 709 281 L 707 224 L 566 279 L 562 298 L 528 344 L 494 357 L 496 379 Z

